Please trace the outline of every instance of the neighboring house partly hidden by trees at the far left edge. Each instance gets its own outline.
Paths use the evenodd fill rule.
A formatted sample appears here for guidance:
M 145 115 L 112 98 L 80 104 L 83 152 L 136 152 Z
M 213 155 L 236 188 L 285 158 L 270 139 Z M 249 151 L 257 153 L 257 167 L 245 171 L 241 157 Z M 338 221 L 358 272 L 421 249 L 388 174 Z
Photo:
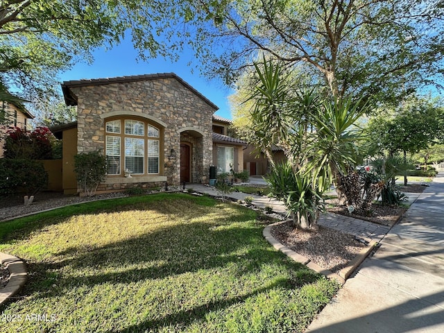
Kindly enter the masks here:
M 3 135 L 8 128 L 19 127 L 29 129 L 29 120 L 34 119 L 33 114 L 26 110 L 22 103 L 0 101 L 1 119 L 7 119 L 6 125 L 0 126 L 0 157 L 3 157 Z

